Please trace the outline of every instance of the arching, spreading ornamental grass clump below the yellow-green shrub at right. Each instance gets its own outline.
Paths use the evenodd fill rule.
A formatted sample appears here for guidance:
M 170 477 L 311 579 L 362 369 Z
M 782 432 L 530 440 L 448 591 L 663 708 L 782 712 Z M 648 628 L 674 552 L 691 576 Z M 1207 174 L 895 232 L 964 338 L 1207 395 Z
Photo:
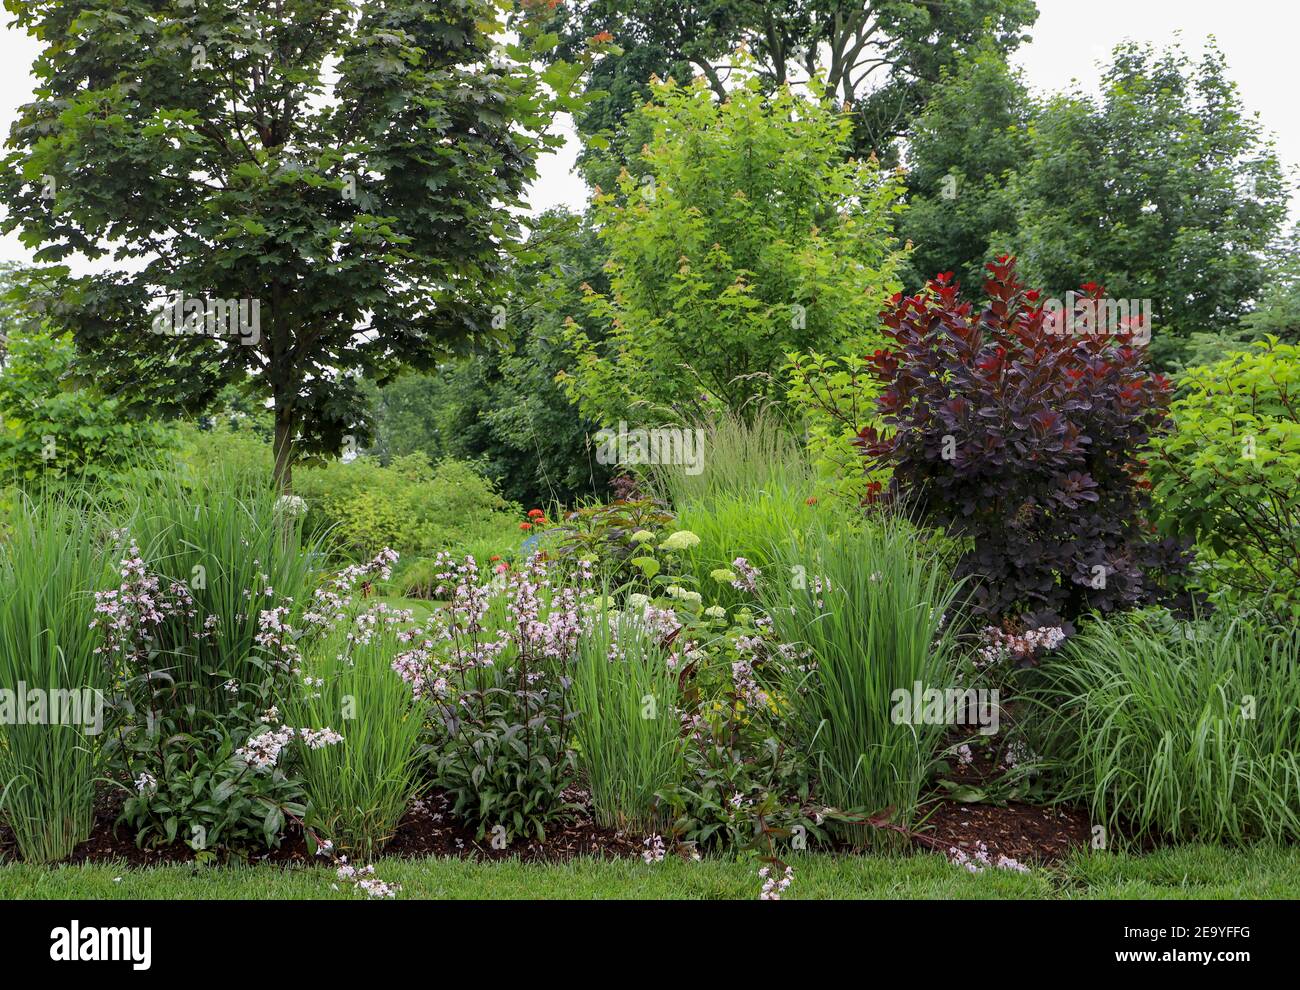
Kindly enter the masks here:
M 1032 744 L 1113 842 L 1300 839 L 1295 629 L 1135 612 L 1035 674 Z

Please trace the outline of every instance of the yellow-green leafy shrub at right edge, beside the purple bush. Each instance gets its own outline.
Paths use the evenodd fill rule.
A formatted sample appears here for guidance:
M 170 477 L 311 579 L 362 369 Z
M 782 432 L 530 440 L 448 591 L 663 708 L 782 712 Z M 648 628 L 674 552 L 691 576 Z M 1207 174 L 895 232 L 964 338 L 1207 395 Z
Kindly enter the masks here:
M 1300 347 L 1193 368 L 1150 459 L 1161 525 L 1197 542 L 1206 586 L 1300 616 Z

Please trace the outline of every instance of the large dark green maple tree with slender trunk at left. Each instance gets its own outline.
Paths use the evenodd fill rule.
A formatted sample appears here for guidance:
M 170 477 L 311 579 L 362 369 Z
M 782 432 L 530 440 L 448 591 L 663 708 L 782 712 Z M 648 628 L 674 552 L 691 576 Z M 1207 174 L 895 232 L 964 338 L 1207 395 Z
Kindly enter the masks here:
M 6 6 L 43 45 L 3 227 L 42 262 L 108 261 L 52 269 L 49 311 L 105 390 L 198 412 L 251 377 L 287 483 L 365 438 L 361 375 L 490 330 L 511 208 L 582 68 L 536 73 L 489 0 Z

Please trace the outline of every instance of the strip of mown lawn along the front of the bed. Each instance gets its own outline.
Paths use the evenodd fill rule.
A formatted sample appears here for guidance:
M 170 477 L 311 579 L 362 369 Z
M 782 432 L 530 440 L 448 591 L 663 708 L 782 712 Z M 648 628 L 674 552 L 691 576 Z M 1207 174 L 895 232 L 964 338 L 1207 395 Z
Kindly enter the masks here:
M 558 865 L 514 860 L 381 860 L 381 878 L 402 885 L 403 899 L 754 899 L 755 863 L 668 859 Z M 1079 855 L 1022 874 L 971 874 L 939 856 L 809 855 L 792 860 L 798 899 L 1300 899 L 1300 850 L 1231 851 L 1187 846 L 1143 856 Z M 355 899 L 334 889 L 325 868 L 114 865 L 0 867 L 5 899 Z

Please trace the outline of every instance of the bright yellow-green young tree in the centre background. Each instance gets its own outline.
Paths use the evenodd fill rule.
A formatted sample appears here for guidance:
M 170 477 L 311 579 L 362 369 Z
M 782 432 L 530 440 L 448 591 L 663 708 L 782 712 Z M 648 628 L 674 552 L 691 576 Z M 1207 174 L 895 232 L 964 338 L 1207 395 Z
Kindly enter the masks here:
M 845 160 L 850 122 L 758 82 L 719 103 L 703 83 L 658 83 L 646 171 L 595 197 L 610 292 L 588 295 L 563 383 L 604 424 L 651 421 L 754 396 L 781 399 L 789 351 L 861 334 L 897 287 L 901 186 Z

